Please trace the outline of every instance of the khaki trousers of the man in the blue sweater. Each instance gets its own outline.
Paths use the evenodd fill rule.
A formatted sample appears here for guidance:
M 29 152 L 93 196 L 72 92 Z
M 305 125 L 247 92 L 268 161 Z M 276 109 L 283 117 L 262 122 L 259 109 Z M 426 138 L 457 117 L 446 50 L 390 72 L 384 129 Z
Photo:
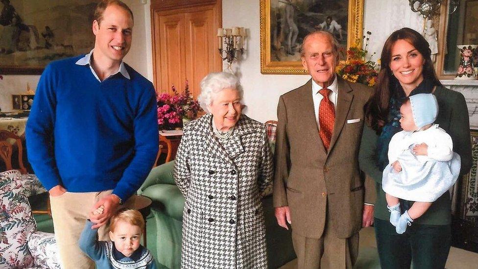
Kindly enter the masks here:
M 61 196 L 50 196 L 51 217 L 63 269 L 95 268 L 95 262 L 79 248 L 78 240 L 93 206 L 98 200 L 112 192 L 113 190 L 91 193 L 66 192 Z M 124 206 L 133 207 L 134 197 L 129 198 Z M 108 230 L 105 226 L 98 230 L 100 241 L 109 240 Z

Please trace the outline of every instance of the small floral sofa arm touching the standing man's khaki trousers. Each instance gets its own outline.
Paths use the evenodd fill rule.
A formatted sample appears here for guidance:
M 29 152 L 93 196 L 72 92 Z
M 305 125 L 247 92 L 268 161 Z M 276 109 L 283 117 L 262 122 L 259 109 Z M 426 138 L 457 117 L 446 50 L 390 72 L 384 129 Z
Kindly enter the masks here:
M 35 259 L 36 266 L 49 269 L 61 268 L 55 234 L 34 232 L 28 239 L 28 248 Z

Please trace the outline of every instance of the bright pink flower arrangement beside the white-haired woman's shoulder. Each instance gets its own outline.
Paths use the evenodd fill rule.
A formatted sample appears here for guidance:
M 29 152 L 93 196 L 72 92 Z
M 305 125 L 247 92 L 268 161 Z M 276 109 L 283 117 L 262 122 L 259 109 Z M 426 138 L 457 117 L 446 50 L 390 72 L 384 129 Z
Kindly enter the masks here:
M 162 93 L 157 96 L 158 125 L 160 130 L 171 130 L 182 126 L 182 119 L 192 120 L 201 110 L 199 102 L 194 100 L 186 81 L 184 92 L 178 93 L 174 85 L 171 87 L 172 96 Z

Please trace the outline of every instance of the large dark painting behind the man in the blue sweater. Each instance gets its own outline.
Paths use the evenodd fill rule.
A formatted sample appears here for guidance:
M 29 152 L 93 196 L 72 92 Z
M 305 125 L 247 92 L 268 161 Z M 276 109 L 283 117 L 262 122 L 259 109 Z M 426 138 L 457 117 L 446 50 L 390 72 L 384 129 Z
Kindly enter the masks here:
M 0 73 L 40 74 L 53 60 L 87 53 L 97 0 L 0 0 Z

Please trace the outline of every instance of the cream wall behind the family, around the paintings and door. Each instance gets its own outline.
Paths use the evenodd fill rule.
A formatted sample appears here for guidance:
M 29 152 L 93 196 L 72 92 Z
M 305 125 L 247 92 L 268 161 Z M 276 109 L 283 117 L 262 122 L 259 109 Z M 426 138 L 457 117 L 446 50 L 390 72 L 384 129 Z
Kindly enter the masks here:
M 124 2 L 131 7 L 135 17 L 133 44 L 125 61 L 152 80 L 150 0 Z M 222 3 L 223 26 L 247 29 L 247 50 L 239 65 L 234 67 L 244 89 L 245 113 L 261 122 L 274 120 L 279 96 L 304 84 L 309 76 L 261 74 L 259 0 L 222 0 Z M 364 29 L 372 31 L 369 51 L 377 52 L 374 60 L 393 30 L 403 26 L 420 29 L 423 22 L 410 10 L 406 0 L 365 0 L 364 10 Z M 24 92 L 27 82 L 35 88 L 38 79 L 38 75 L 4 75 L 0 80 L 0 107 L 11 110 L 10 95 Z

